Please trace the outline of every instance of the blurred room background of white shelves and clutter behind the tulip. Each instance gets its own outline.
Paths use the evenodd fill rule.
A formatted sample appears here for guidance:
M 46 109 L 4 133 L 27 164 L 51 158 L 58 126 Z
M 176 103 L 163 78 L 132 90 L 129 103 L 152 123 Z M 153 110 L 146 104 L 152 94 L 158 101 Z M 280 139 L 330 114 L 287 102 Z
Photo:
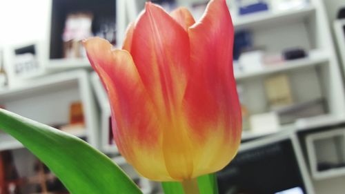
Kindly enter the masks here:
M 205 0 L 153 1 L 195 19 Z M 119 155 L 110 105 L 81 40 L 121 47 L 144 0 L 0 1 L 0 107 L 76 135 L 106 153 L 144 193 L 162 193 Z M 219 194 L 345 191 L 345 1 L 232 0 L 242 145 L 217 173 Z M 221 45 L 219 45 L 221 46 Z M 0 194 L 68 193 L 0 129 Z

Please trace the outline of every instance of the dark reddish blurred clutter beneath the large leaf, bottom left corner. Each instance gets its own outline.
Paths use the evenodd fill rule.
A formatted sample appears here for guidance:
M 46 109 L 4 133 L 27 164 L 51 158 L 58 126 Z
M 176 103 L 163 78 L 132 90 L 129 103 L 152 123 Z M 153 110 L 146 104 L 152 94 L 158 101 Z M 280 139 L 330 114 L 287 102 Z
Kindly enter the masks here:
M 25 165 L 24 165 L 25 164 Z M 23 166 L 28 165 L 28 168 Z M 29 151 L 0 152 L 0 193 L 68 193 L 63 184 Z

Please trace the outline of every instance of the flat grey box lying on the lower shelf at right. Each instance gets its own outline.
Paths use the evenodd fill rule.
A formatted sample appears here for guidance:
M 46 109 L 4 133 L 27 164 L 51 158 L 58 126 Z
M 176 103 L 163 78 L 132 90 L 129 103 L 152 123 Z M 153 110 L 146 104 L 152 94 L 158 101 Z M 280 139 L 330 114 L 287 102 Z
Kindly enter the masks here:
M 277 111 L 280 124 L 289 124 L 295 122 L 296 119 L 315 117 L 326 113 L 324 99 L 314 99 L 299 104 L 294 104 Z

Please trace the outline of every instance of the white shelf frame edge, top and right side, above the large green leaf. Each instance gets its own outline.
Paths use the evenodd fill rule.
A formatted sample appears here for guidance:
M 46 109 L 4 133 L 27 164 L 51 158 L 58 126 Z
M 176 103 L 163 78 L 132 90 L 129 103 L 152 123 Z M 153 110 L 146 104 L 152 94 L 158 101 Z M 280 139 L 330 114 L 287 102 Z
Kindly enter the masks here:
M 97 135 L 95 132 L 95 110 L 93 106 L 92 94 L 88 85 L 88 72 L 86 70 L 70 70 L 59 72 L 53 75 L 46 75 L 39 79 L 26 81 L 25 84 L 13 88 L 4 88 L 0 90 L 0 102 L 12 101 L 15 99 L 26 99 L 45 95 L 46 93 L 56 92 L 59 90 L 69 90 L 70 88 L 79 88 L 80 100 L 83 103 L 84 115 L 86 117 L 86 128 L 79 128 L 72 132 L 77 137 L 87 137 L 92 146 L 97 146 Z M 51 123 L 48 123 L 51 124 Z M 0 141 L 0 147 L 2 142 Z M 8 143 L 10 145 L 12 143 Z M 15 144 L 13 147 L 16 148 Z

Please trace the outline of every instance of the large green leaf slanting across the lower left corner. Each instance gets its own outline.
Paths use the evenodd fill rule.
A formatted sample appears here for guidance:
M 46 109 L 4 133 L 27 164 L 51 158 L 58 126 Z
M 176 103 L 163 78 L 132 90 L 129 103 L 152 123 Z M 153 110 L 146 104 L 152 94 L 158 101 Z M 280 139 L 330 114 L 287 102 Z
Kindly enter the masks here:
M 39 157 L 72 194 L 139 194 L 121 168 L 81 139 L 0 108 L 0 128 Z

